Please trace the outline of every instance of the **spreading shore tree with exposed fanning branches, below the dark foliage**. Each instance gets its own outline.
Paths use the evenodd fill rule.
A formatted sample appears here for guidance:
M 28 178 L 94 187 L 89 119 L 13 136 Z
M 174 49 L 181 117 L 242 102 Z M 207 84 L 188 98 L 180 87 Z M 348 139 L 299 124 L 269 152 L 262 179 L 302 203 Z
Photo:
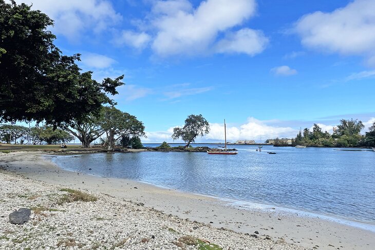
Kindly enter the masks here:
M 98 139 L 105 132 L 100 126 L 103 119 L 103 111 L 98 116 L 88 115 L 83 121 L 73 120 L 64 124 L 62 128 L 77 137 L 83 148 L 90 147 L 90 143 Z

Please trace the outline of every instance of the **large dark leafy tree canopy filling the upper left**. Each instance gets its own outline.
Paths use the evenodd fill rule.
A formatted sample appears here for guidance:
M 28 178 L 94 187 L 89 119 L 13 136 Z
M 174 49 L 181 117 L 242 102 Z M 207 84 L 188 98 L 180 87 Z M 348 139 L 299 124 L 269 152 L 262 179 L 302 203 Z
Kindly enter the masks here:
M 60 124 L 82 120 L 111 103 L 123 76 L 98 83 L 80 72 L 80 55 L 62 55 L 39 10 L 0 0 L 0 120 Z

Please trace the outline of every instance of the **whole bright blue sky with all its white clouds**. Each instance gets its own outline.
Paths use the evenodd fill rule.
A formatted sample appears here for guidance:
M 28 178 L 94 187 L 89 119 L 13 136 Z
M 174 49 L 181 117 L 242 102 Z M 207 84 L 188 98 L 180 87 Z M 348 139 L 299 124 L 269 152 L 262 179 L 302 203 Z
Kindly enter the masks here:
M 375 0 L 27 0 L 93 77 L 125 75 L 117 108 L 172 142 L 189 114 L 208 136 L 265 141 L 340 119 L 375 122 Z M 364 130 L 365 131 L 365 130 Z

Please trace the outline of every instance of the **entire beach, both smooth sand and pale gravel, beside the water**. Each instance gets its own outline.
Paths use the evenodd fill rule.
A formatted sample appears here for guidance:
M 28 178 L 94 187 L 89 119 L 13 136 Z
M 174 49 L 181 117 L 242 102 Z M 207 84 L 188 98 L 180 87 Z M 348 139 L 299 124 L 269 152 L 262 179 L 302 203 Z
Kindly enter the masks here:
M 66 249 L 65 243 L 72 239 L 74 246 L 83 249 L 197 247 L 181 243 L 182 236 L 223 249 L 373 249 L 375 245 L 375 233 L 370 230 L 277 207 L 241 209 L 211 197 L 66 171 L 45 155 L 0 153 L 0 249 L 39 249 L 41 245 Z M 57 205 L 53 197 L 64 194 L 59 191 L 62 187 L 83 190 L 98 201 Z M 36 205 L 53 211 L 43 211 L 45 216 L 33 213 L 33 219 L 22 226 L 8 222 L 11 211 Z

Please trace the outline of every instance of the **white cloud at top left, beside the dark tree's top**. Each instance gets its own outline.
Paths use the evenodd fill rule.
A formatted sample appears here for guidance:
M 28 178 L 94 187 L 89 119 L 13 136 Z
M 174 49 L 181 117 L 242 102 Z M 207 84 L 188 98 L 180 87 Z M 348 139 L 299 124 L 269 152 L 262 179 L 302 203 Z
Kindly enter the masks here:
M 52 31 L 74 42 L 87 30 L 99 33 L 122 20 L 121 14 L 106 0 L 24 0 L 17 3 L 32 4 L 33 9 L 46 13 L 54 20 Z

